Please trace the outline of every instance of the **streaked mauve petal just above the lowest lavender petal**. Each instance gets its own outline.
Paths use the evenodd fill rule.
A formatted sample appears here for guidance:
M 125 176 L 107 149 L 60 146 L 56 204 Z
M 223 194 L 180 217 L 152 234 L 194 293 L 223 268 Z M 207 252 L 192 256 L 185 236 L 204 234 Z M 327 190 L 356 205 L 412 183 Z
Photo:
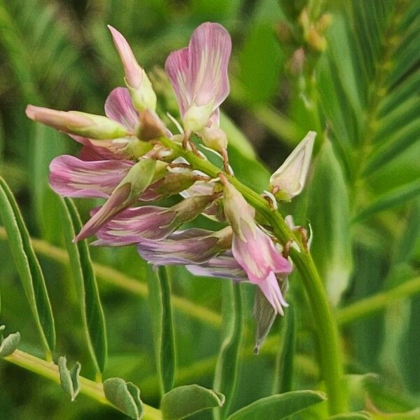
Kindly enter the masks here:
M 163 239 L 177 226 L 172 225 L 175 212 L 165 207 L 144 206 L 121 211 L 96 233 L 94 245 L 123 246 L 146 239 Z M 92 219 L 91 219 L 92 220 Z

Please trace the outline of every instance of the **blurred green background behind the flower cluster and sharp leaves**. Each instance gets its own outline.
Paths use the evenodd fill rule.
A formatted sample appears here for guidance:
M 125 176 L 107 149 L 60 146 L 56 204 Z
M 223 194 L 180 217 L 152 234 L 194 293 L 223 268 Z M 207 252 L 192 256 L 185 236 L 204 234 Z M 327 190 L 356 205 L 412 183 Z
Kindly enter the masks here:
M 185 46 L 195 27 L 205 21 L 220 22 L 232 34 L 231 94 L 222 109 L 231 165 L 239 179 L 258 192 L 267 189 L 269 174 L 304 134 L 318 132 L 307 188 L 281 212 L 293 214 L 296 223 L 310 223 L 314 232 L 314 259 L 341 324 L 346 371 L 353 374 L 352 407 L 366 407 L 367 392 L 381 411 L 416 407 L 420 396 L 420 297 L 413 294 L 420 289 L 415 286 L 420 267 L 418 0 L 2 1 L 0 174 L 17 197 L 31 236 L 42 240 L 36 251 L 57 325 L 55 358 L 66 354 L 71 363 L 82 363 L 83 376 L 94 376 L 73 278 L 63 253 L 54 253 L 63 248 L 60 208 L 48 186 L 50 160 L 63 153 L 76 154 L 78 145 L 32 123 L 25 106 L 103 113 L 107 94 L 123 85 L 123 69 L 106 28 L 110 24 L 126 36 L 139 63 L 151 74 L 159 111 L 176 115 L 162 66 L 168 53 Z M 93 203 L 78 200 L 77 204 L 86 220 Z M 216 228 L 204 219 L 193 225 Z M 91 253 L 102 269 L 98 281 L 109 337 L 104 377 L 133 381 L 145 402 L 158 405 L 148 301 L 144 288 L 136 287 L 146 285 L 151 269 L 134 247 L 92 248 Z M 21 332 L 20 349 L 42 357 L 3 228 L 0 267 L 0 324 L 8 332 Z M 171 268 L 170 274 L 174 295 L 220 313 L 223 280 L 195 278 L 183 267 Z M 127 279 L 129 286 L 121 286 Z M 390 293 L 386 307 L 372 314 L 342 309 L 416 279 L 411 297 L 393 300 Z M 248 285 L 242 289 L 248 328 L 236 408 L 272 391 L 280 372 L 278 332 L 283 330 L 279 319 L 261 354 L 254 356 L 254 289 Z M 297 274 L 290 278 L 287 300 L 297 317 L 293 388 L 315 388 L 320 381 L 317 346 Z M 175 325 L 176 383 L 211 387 L 220 325 L 178 309 Z M 363 376 L 368 372 L 379 377 Z M 69 402 L 56 384 L 0 360 L 0 419 L 46 418 L 125 417 L 83 395 Z M 209 414 L 195 418 L 207 419 Z

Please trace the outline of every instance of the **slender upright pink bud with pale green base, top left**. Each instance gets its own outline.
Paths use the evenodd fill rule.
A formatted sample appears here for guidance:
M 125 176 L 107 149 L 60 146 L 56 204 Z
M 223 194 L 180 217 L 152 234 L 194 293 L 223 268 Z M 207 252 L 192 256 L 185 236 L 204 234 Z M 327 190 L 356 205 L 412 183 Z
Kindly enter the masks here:
M 111 27 L 111 25 L 108 25 L 108 28 L 111 31 L 113 42 L 123 62 L 125 83 L 132 95 L 134 108 L 137 111 L 143 111 L 144 109 L 155 111 L 156 94 L 153 90 L 151 80 L 149 80 L 144 69 L 137 63 L 136 57 L 134 57 L 133 51 L 124 36 L 117 29 Z

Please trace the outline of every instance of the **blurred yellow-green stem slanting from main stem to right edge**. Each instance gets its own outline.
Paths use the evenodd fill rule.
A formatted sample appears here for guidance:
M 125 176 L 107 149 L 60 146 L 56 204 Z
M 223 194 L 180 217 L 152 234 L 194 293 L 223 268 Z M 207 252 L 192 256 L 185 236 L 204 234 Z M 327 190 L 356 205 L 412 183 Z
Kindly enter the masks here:
M 351 323 L 356 319 L 369 316 L 381 309 L 384 309 L 395 300 L 402 299 L 420 293 L 420 277 L 406 281 L 377 295 L 365 297 L 365 299 L 349 304 L 349 306 L 337 310 L 337 322 L 340 325 Z

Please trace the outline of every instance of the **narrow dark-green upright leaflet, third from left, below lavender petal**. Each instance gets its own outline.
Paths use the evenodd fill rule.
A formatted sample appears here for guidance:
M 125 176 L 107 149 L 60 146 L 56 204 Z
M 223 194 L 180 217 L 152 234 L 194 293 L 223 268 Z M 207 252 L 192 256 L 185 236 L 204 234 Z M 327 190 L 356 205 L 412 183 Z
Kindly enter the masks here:
M 160 388 L 165 394 L 174 386 L 176 366 L 171 288 L 166 267 L 158 267 L 158 276 L 149 276 L 148 287 Z

